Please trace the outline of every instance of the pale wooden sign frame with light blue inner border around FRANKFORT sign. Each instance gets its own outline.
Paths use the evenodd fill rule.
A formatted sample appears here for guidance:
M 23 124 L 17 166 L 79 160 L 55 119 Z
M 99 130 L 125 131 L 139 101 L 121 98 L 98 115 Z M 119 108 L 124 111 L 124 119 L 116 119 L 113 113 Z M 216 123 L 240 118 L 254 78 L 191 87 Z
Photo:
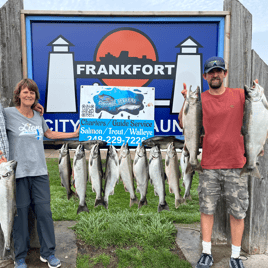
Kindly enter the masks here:
M 230 12 L 78 12 L 21 10 L 23 77 L 33 78 L 31 23 L 36 21 L 60 22 L 216 22 L 218 23 L 218 56 L 229 66 Z M 228 86 L 228 76 L 225 86 Z M 173 98 L 173 97 L 172 97 Z M 166 100 L 158 100 L 164 103 Z M 160 105 L 158 105 L 160 106 Z M 180 138 L 180 137 L 179 137 Z

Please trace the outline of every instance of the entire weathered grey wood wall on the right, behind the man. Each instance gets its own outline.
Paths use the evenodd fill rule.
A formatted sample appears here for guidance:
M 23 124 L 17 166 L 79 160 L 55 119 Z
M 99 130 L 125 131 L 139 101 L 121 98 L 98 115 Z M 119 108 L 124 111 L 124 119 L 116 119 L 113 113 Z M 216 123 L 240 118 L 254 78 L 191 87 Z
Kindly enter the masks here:
M 231 12 L 229 87 L 244 88 L 259 79 L 268 97 L 268 66 L 251 50 L 252 15 L 237 0 L 224 0 L 224 11 Z M 265 155 L 259 157 L 259 170 L 262 180 L 249 176 L 249 209 L 245 218 L 242 248 L 249 254 L 268 252 L 268 145 Z M 231 244 L 229 216 L 223 198 L 217 204 L 212 242 Z

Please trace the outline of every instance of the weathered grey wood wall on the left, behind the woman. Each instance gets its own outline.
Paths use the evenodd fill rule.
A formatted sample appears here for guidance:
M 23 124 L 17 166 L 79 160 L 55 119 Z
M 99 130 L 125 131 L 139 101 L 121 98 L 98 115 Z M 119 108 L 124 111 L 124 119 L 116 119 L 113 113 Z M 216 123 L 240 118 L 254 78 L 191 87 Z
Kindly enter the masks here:
M 0 101 L 3 107 L 12 104 L 14 87 L 22 79 L 21 9 L 22 0 L 9 0 L 0 9 Z M 14 258 L 13 246 L 3 258 L 3 243 L 0 232 L 0 259 Z

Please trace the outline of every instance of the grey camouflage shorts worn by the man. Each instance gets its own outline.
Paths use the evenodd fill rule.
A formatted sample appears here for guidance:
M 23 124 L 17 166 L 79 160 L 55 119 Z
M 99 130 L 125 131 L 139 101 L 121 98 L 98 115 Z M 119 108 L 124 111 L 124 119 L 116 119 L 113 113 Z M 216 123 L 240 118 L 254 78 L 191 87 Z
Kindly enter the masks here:
M 199 173 L 200 212 L 213 215 L 221 195 L 226 199 L 227 212 L 244 219 L 249 204 L 248 176 L 240 177 L 241 169 L 204 169 Z

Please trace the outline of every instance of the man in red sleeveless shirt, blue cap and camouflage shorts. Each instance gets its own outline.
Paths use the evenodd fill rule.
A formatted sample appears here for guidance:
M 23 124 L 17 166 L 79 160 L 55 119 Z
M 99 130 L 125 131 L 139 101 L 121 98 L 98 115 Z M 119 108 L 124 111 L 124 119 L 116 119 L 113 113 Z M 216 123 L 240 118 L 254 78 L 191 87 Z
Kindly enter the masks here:
M 205 62 L 203 78 L 208 82 L 209 90 L 201 94 L 205 135 L 201 161 L 203 173 L 199 175 L 198 187 L 203 250 L 196 268 L 206 268 L 213 264 L 213 214 L 221 194 L 226 198 L 230 214 L 232 255 L 229 266 L 244 268 L 239 256 L 249 203 L 248 178 L 240 177 L 245 163 L 241 135 L 245 95 L 243 89 L 224 87 L 223 80 L 226 76 L 227 70 L 222 58 L 212 57 Z M 186 92 L 184 85 L 184 97 Z M 181 126 L 182 110 L 179 114 Z

